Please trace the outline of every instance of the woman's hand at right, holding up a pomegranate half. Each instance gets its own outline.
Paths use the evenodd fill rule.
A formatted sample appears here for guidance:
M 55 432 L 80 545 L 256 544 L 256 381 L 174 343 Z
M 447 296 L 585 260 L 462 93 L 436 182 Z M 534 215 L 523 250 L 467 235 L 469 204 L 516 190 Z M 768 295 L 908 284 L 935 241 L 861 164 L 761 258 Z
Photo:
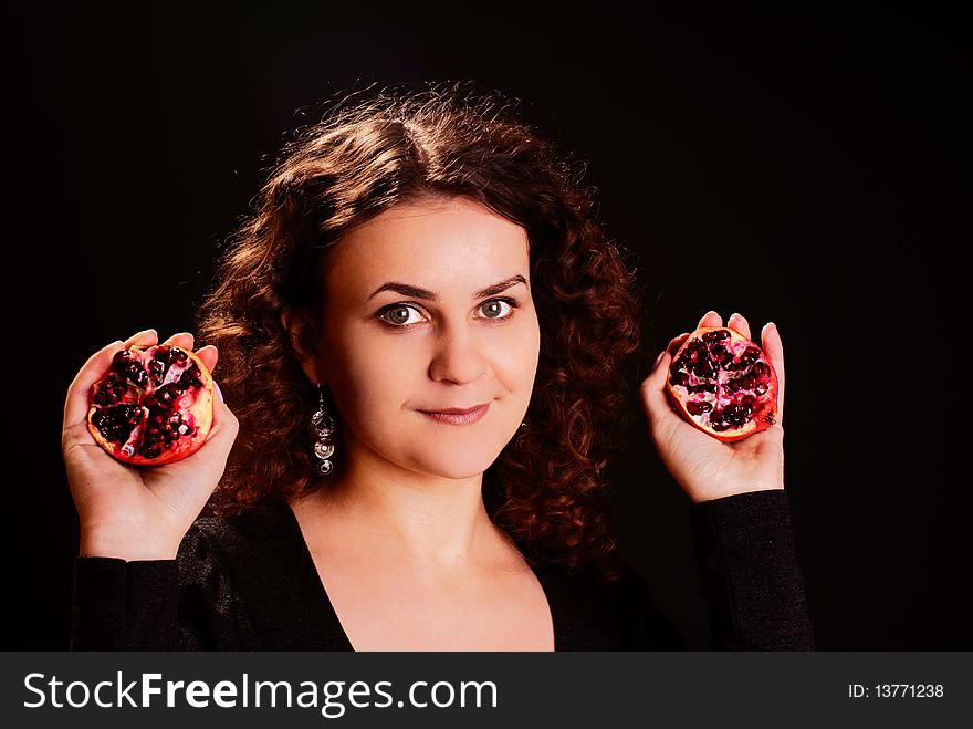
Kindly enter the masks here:
M 708 312 L 698 326 L 723 326 L 716 312 Z M 752 339 L 750 324 L 733 314 L 726 326 Z M 672 357 L 689 337 L 673 339 L 641 385 L 642 407 L 649 435 L 662 462 L 693 502 L 709 501 L 747 491 L 784 488 L 784 347 L 777 327 L 767 323 L 761 332 L 762 347 L 777 373 L 777 421 L 761 433 L 721 442 L 683 420 L 666 394 Z

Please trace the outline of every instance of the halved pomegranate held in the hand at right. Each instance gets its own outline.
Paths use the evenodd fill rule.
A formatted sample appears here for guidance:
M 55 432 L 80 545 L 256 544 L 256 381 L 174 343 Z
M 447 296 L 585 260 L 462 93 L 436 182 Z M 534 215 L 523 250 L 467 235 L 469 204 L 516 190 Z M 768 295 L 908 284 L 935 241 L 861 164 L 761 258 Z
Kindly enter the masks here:
M 766 430 L 777 418 L 777 373 L 763 350 L 725 326 L 689 335 L 666 390 L 683 419 L 723 442 Z

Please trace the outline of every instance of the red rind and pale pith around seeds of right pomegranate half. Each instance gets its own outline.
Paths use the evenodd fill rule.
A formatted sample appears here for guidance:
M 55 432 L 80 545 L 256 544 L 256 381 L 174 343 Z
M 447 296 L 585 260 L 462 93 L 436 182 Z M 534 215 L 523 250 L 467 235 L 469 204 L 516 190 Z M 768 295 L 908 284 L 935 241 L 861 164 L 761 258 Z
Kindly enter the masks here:
M 729 427 L 724 430 L 714 430 L 710 427 L 708 414 L 703 414 L 705 417 L 703 415 L 691 414 L 687 409 L 691 402 L 687 387 L 673 382 L 673 378 L 680 372 L 678 363 L 682 355 L 687 354 L 688 351 L 691 351 L 691 347 L 699 346 L 695 342 L 701 340 L 704 334 L 714 331 L 729 332 L 729 337 L 723 342 L 730 344 L 729 348 L 731 352 L 739 353 L 746 347 L 754 347 L 757 350 L 760 354 L 756 362 L 765 363 L 768 368 L 768 378 L 766 381 L 767 390 L 763 395 L 756 396 L 756 403 L 753 406 L 752 416 L 749 417 L 742 426 Z M 666 378 L 666 392 L 669 395 L 673 408 L 683 420 L 721 442 L 733 442 L 747 438 L 756 433 L 766 430 L 773 426 L 777 419 L 777 373 L 774 369 L 773 364 L 771 364 L 770 358 L 760 345 L 728 326 L 701 326 L 687 337 L 686 342 L 683 342 L 682 346 L 679 347 L 672 357 L 672 363 L 670 364 L 669 373 Z M 730 402 L 733 400 L 731 399 Z

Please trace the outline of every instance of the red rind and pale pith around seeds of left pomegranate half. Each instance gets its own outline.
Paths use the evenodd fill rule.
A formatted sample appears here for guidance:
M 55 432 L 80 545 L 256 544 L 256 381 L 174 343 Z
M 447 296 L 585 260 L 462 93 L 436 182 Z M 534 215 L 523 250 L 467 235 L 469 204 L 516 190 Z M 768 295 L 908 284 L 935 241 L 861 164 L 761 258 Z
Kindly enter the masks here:
M 160 345 L 151 346 L 148 348 L 142 348 L 138 346 L 128 347 L 128 352 L 133 360 L 138 360 L 139 362 L 148 362 L 151 360 L 153 354 L 158 350 Z M 166 464 L 171 464 L 177 460 L 181 460 L 195 454 L 202 447 L 202 444 L 206 441 L 207 436 L 209 435 L 210 429 L 212 428 L 212 406 L 213 406 L 213 379 L 212 374 L 209 368 L 203 364 L 202 360 L 199 358 L 193 352 L 186 350 L 184 347 L 174 347 L 185 352 L 189 361 L 199 368 L 199 379 L 201 381 L 201 386 L 198 388 L 192 388 L 191 392 L 187 390 L 179 395 L 179 397 L 172 400 L 171 412 L 178 410 L 180 414 L 184 414 L 184 421 L 192 428 L 192 433 L 190 435 L 184 436 L 175 441 L 169 447 L 163 448 L 161 452 L 155 458 L 146 458 L 140 455 L 138 451 L 128 454 L 125 452 L 124 442 L 113 441 L 107 439 L 101 430 L 93 423 L 94 416 L 101 409 L 95 403 L 94 398 L 97 395 L 98 390 L 104 387 L 105 382 L 111 377 L 112 371 L 105 373 L 105 375 L 96 382 L 91 389 L 90 394 L 90 407 L 87 413 L 87 429 L 94 438 L 95 442 L 97 442 L 106 452 L 108 452 L 112 457 L 123 461 L 125 464 L 132 466 L 164 466 Z M 146 394 L 150 394 L 155 388 L 146 390 Z M 135 396 L 129 388 L 129 392 L 123 396 L 119 400 L 121 404 L 130 404 L 135 407 L 139 405 L 139 398 Z M 147 408 L 142 408 L 144 412 L 143 417 L 145 417 L 145 412 Z

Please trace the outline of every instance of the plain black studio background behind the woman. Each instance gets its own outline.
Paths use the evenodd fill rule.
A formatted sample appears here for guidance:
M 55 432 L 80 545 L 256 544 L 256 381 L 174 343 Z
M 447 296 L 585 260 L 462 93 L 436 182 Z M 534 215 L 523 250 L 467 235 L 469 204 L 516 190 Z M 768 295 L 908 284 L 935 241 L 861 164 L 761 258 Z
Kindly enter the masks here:
M 4 648 L 66 646 L 77 523 L 59 430 L 86 356 L 191 326 L 221 241 L 321 103 L 462 79 L 521 98 L 586 163 L 638 261 L 647 354 L 708 309 L 778 324 L 818 647 L 973 646 L 955 12 L 135 4 L 8 11 Z M 638 420 L 629 442 L 619 540 L 705 648 L 688 501 Z

